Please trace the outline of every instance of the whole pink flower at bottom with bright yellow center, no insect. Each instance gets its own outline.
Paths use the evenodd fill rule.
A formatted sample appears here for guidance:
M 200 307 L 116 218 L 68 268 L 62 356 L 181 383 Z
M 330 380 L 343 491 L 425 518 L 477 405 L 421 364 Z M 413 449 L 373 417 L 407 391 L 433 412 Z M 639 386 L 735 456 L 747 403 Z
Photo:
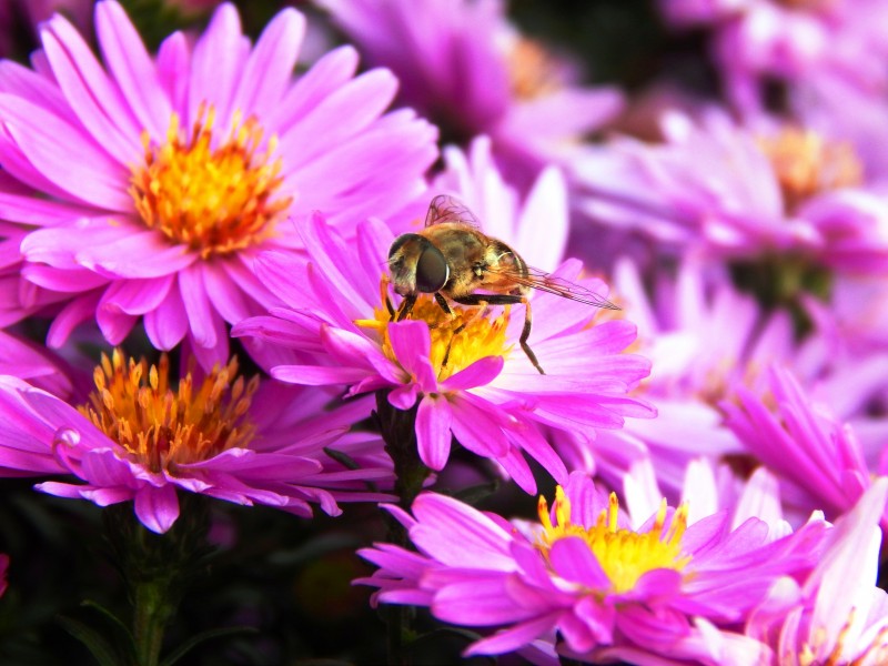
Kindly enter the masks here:
M 731 627 L 780 576 L 814 568 L 826 532 L 815 521 L 770 539 L 761 521 L 731 529 L 724 512 L 689 525 L 687 506 L 665 501 L 655 515 L 630 519 L 579 473 L 558 487 L 552 512 L 541 498 L 538 525 L 435 494 L 420 495 L 412 515 L 389 509 L 418 552 L 360 552 L 380 567 L 357 581 L 379 588 L 375 601 L 500 627 L 466 655 L 513 652 L 557 632 L 561 654 L 593 663 L 758 663 L 767 648 Z

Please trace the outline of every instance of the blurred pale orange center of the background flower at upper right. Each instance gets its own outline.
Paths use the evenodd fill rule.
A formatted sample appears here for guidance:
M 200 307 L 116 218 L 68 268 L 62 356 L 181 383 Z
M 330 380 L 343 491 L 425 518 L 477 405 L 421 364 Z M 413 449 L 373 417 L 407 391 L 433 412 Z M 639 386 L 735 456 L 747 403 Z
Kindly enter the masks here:
M 758 143 L 774 165 L 788 212 L 817 193 L 862 182 L 864 167 L 848 143 L 798 128 L 761 137 Z

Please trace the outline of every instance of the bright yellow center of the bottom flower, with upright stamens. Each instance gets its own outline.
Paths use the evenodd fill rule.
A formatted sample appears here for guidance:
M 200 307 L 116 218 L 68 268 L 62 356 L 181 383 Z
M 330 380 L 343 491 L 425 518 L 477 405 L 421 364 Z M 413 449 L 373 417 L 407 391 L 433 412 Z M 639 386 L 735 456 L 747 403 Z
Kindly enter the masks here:
M 552 523 L 546 500 L 539 497 L 539 549 L 548 557 L 552 545 L 565 537 L 576 536 L 586 542 L 602 569 L 610 579 L 613 588 L 607 593 L 623 593 L 632 589 L 638 578 L 653 569 L 669 568 L 680 572 L 690 562 L 689 555 L 682 555 L 682 537 L 687 529 L 687 505 L 683 504 L 673 514 L 668 529 L 666 523 L 666 500 L 660 503 L 656 521 L 649 532 L 638 533 L 617 527 L 619 504 L 610 493 L 609 506 L 603 509 L 592 527 L 571 523 L 571 501 L 561 486 L 555 488 L 555 518 Z

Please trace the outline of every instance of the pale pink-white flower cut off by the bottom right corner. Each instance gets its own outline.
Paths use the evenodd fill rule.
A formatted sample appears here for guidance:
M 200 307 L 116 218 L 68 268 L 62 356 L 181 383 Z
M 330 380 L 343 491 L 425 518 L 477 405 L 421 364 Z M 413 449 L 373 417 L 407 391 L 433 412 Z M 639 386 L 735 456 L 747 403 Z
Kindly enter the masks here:
M 771 647 L 770 663 L 886 663 L 888 595 L 877 586 L 886 494 L 888 480 L 876 481 L 829 531 L 808 576 L 776 582 L 751 614 L 746 633 Z

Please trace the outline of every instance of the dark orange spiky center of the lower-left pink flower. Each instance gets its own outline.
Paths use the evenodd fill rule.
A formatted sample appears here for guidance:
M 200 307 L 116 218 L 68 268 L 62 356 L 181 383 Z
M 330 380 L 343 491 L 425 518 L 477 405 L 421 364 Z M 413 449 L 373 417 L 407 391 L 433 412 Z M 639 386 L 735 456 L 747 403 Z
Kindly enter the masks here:
M 152 472 L 175 473 L 178 464 L 245 447 L 255 434 L 246 413 L 259 379 L 236 377 L 238 361 L 214 367 L 199 386 L 191 373 L 170 385 L 170 363 L 125 361 L 102 354 L 93 372 L 95 391 L 80 412 Z

